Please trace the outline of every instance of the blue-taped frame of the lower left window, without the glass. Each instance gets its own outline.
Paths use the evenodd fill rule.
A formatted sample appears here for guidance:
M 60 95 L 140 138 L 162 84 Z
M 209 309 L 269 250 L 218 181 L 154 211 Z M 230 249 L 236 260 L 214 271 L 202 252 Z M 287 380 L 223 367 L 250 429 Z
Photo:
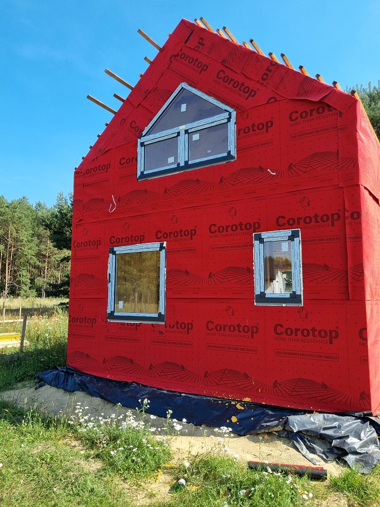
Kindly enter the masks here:
M 160 251 L 160 286 L 158 313 L 116 312 L 116 256 L 122 253 Z M 165 323 L 166 300 L 166 241 L 109 248 L 107 320 L 117 322 Z

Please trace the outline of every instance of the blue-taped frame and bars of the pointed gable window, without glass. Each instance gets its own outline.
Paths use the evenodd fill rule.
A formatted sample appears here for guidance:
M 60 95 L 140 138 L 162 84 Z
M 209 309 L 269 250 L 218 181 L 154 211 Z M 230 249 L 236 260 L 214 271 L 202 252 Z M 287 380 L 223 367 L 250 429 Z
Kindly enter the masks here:
M 223 109 L 225 113 L 217 116 L 209 117 L 204 120 L 197 122 L 188 123 L 185 125 L 178 125 L 162 132 L 147 135 L 147 132 L 154 126 L 154 124 L 160 119 L 161 115 L 170 107 L 174 99 L 177 97 L 179 92 L 186 89 L 195 95 L 211 102 L 217 107 Z M 204 157 L 202 159 L 188 161 L 188 136 L 191 133 L 203 130 L 205 128 L 214 127 L 217 125 L 227 124 L 228 126 L 228 150 L 226 153 L 213 155 L 211 157 Z M 172 137 L 178 137 L 178 162 L 176 164 L 168 164 L 163 167 L 151 169 L 149 171 L 144 169 L 145 165 L 145 146 L 154 144 L 156 142 L 163 141 Z M 191 169 L 197 169 L 201 167 L 207 167 L 209 165 L 220 164 L 223 162 L 229 162 L 236 160 L 236 112 L 235 110 L 223 104 L 219 100 L 206 95 L 205 93 L 189 86 L 187 83 L 181 83 L 178 88 L 174 91 L 173 95 L 169 100 L 161 107 L 157 115 L 151 120 L 149 125 L 143 130 L 142 134 L 137 141 L 137 179 L 154 178 L 163 176 L 165 174 L 174 174 L 176 172 L 187 171 Z

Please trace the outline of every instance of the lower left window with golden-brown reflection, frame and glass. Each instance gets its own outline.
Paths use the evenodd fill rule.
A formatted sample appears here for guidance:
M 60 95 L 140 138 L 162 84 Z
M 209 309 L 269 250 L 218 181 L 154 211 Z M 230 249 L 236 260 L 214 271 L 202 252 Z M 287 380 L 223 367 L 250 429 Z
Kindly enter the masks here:
M 165 322 L 166 243 L 109 249 L 108 320 Z

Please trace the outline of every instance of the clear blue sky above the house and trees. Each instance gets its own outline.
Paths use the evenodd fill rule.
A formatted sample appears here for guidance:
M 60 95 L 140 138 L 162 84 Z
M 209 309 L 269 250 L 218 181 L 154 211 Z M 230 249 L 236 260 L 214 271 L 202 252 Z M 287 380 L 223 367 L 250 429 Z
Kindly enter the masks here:
M 138 28 L 162 46 L 181 18 L 203 16 L 327 83 L 380 79 L 378 0 L 2 0 L 1 11 L 0 195 L 9 200 L 51 206 L 71 191 L 74 167 L 111 118 L 87 94 L 117 109 L 113 93 L 128 90 L 104 69 L 135 85 L 144 56 L 156 55 Z

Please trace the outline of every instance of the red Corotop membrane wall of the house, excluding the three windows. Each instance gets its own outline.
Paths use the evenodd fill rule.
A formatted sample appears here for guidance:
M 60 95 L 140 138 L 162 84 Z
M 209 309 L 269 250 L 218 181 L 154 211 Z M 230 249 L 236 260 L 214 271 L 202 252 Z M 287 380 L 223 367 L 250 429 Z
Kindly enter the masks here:
M 236 161 L 138 182 L 137 138 L 181 82 L 236 110 Z M 68 364 L 182 392 L 369 410 L 361 188 L 378 186 L 358 157 L 357 104 L 182 20 L 75 171 Z M 253 233 L 291 228 L 303 306 L 255 306 Z M 157 241 L 165 324 L 107 321 L 109 247 Z

